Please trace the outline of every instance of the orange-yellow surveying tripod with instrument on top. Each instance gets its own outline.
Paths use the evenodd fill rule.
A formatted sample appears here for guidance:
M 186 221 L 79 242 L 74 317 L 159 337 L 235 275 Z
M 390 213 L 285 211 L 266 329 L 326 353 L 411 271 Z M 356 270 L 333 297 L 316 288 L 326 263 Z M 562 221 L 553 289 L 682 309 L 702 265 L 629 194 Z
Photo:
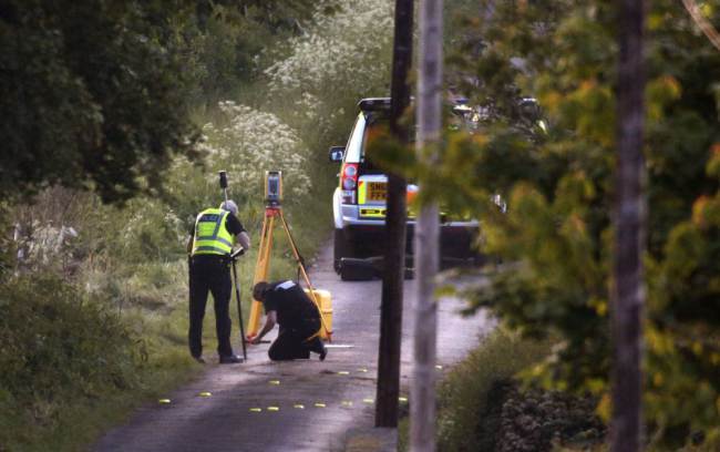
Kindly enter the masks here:
M 259 281 L 267 280 L 268 270 L 270 268 L 270 251 L 272 250 L 272 230 L 275 228 L 275 223 L 279 219 L 282 229 L 288 237 L 288 243 L 290 244 L 290 249 L 292 250 L 292 256 L 298 264 L 298 279 L 302 276 L 302 279 L 308 285 L 308 296 L 318 308 L 320 314 L 321 329 L 327 335 L 329 341 L 332 341 L 332 331 L 328 328 L 327 322 L 322 315 L 322 309 L 320 306 L 320 300 L 315 292 L 312 284 L 310 282 L 310 277 L 305 269 L 305 263 L 298 251 L 298 247 L 292 238 L 290 233 L 290 227 L 285 220 L 285 215 L 282 215 L 282 207 L 280 205 L 281 197 L 281 174 L 280 172 L 267 172 L 266 173 L 266 204 L 265 204 L 265 216 L 263 219 L 263 230 L 260 233 L 260 245 L 257 251 L 257 264 L 255 266 L 255 277 L 253 278 L 253 286 Z M 250 316 L 247 320 L 247 339 L 250 340 L 257 336 L 259 325 L 260 325 L 260 309 L 261 302 L 253 299 L 250 306 Z

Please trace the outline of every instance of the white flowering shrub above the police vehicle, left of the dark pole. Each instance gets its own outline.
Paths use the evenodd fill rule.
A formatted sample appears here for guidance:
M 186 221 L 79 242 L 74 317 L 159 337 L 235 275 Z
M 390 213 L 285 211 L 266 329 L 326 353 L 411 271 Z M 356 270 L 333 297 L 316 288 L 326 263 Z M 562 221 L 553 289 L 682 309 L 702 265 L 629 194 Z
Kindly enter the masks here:
M 393 2 L 337 6 L 331 13 L 319 6 L 306 33 L 290 40 L 289 54 L 264 71 L 272 102 L 286 104 L 296 126 L 311 125 L 320 142 L 335 138 L 336 120 L 347 122 L 360 97 L 389 93 Z

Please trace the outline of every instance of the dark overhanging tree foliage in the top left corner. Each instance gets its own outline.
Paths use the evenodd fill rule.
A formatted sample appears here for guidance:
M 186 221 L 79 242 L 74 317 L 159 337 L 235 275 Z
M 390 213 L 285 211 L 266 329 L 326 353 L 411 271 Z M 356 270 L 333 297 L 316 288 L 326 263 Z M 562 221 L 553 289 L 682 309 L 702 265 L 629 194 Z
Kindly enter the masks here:
M 174 154 L 193 155 L 182 48 L 171 2 L 42 0 L 0 19 L 0 193 L 61 184 L 123 202 L 162 187 Z

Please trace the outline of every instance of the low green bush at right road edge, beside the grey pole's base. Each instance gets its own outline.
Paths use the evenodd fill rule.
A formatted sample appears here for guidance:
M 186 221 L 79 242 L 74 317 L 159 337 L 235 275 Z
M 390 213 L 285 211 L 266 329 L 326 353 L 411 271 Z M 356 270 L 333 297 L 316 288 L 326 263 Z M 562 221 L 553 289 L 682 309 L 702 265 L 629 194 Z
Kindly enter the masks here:
M 545 451 L 554 439 L 601 439 L 593 400 L 518 388 L 514 377 L 549 350 L 549 341 L 521 339 L 502 328 L 485 339 L 441 383 L 438 449 Z

